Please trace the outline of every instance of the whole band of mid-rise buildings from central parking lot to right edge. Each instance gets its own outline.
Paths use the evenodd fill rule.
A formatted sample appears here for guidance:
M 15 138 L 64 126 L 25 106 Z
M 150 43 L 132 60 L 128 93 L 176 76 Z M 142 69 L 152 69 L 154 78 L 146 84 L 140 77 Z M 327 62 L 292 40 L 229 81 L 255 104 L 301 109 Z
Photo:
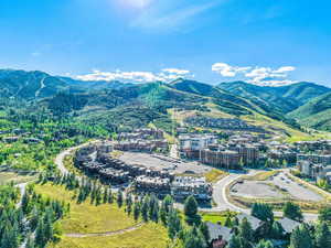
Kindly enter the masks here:
M 264 133 L 232 133 L 227 140 L 213 133 L 179 136 L 182 158 L 223 169 L 241 169 L 270 162 L 271 166 L 297 165 L 309 177 L 331 183 L 331 141 L 300 141 L 281 143 L 267 140 Z

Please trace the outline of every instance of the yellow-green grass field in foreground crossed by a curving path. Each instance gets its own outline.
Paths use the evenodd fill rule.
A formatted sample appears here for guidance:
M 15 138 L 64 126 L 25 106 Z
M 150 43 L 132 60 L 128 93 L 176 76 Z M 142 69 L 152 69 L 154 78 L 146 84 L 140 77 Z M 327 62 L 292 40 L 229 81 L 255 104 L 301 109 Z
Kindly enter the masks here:
M 65 234 L 102 234 L 126 229 L 137 225 L 124 208 L 116 204 L 90 205 L 89 201 L 77 204 L 74 192 L 51 183 L 35 185 L 35 191 L 45 197 L 65 201 L 71 204 L 71 213 L 60 222 L 63 237 L 49 248 L 163 248 L 167 247 L 168 234 L 161 224 L 143 224 L 135 230 L 113 236 L 67 237 Z M 140 222 L 140 220 L 139 220 Z

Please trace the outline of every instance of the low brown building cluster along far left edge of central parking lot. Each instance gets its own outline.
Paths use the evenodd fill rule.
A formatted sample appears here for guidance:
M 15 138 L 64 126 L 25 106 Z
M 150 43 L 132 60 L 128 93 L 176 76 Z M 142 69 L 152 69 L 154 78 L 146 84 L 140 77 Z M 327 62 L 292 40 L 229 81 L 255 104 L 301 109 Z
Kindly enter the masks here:
M 120 151 L 137 152 L 166 152 L 169 150 L 168 141 L 160 129 L 138 129 L 135 132 L 121 132 L 114 144 Z

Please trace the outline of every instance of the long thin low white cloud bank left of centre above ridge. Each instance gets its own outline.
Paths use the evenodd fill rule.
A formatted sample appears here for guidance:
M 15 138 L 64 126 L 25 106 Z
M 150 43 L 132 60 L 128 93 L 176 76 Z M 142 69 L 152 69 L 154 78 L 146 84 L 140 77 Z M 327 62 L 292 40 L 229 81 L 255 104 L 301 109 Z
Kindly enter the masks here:
M 76 76 L 79 80 L 122 80 L 131 83 L 170 82 L 180 77 L 193 77 L 190 71 L 178 68 L 164 68 L 160 73 L 152 72 L 102 72 L 94 69 L 93 73 Z

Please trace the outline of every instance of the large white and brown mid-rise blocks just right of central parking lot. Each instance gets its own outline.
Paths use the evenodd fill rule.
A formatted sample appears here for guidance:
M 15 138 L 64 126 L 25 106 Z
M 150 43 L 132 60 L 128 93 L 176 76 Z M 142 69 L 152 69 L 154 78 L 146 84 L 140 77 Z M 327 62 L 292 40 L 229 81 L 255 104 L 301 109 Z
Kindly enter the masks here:
M 233 136 L 221 144 L 215 134 L 181 134 L 180 154 L 213 166 L 237 169 L 258 161 L 259 147 L 254 140 L 254 136 Z

